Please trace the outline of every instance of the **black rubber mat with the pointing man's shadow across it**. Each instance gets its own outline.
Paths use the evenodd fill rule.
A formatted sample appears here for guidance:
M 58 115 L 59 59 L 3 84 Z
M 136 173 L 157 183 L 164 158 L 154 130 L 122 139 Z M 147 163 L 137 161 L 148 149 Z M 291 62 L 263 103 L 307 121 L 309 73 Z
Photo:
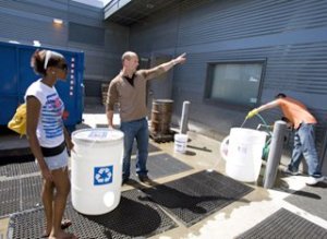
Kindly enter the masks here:
M 165 184 L 143 189 L 186 226 L 241 199 L 253 189 L 216 171 L 201 171 Z

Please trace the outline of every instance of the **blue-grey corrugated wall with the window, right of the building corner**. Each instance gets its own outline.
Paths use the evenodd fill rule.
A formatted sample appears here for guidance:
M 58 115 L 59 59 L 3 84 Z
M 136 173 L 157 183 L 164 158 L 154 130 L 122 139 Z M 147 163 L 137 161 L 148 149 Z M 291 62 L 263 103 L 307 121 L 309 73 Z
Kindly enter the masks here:
M 207 63 L 266 60 L 257 105 L 283 92 L 303 101 L 319 121 L 318 146 L 327 118 L 327 1 L 181 1 L 131 26 L 131 48 L 142 56 L 187 52 L 187 62 L 173 70 L 173 120 L 183 100 L 191 101 L 191 128 L 221 139 L 240 127 L 249 108 L 204 101 Z M 255 105 L 254 105 L 255 106 Z M 263 112 L 267 122 L 278 109 Z M 261 121 L 252 119 L 246 127 Z

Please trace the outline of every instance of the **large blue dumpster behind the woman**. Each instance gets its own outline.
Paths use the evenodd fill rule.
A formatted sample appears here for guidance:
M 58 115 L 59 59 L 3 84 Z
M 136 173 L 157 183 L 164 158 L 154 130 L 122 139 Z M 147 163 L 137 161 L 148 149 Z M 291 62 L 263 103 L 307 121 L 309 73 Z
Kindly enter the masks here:
M 37 79 L 31 68 L 31 57 L 39 48 L 21 44 L 0 43 L 0 126 L 7 126 L 17 106 L 24 103 L 27 87 Z M 56 88 L 64 101 L 64 124 L 68 129 L 82 122 L 84 100 L 84 52 L 50 49 L 64 56 L 69 65 L 66 81 L 59 81 Z

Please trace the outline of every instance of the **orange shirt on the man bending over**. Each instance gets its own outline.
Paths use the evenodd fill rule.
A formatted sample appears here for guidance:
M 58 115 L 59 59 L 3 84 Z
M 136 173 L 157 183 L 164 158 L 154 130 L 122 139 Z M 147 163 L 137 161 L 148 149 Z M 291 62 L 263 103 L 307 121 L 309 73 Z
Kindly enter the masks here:
M 278 98 L 276 101 L 282 113 L 293 123 L 294 129 L 298 129 L 302 122 L 317 123 L 317 120 L 302 103 L 290 97 Z

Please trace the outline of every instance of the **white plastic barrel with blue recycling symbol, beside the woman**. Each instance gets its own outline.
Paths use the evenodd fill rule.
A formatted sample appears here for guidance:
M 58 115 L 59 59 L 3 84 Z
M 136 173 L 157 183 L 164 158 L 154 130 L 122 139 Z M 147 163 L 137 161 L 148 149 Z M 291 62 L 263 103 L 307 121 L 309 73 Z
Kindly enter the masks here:
M 72 133 L 72 204 L 82 214 L 100 215 L 120 202 L 123 133 L 108 128 Z

